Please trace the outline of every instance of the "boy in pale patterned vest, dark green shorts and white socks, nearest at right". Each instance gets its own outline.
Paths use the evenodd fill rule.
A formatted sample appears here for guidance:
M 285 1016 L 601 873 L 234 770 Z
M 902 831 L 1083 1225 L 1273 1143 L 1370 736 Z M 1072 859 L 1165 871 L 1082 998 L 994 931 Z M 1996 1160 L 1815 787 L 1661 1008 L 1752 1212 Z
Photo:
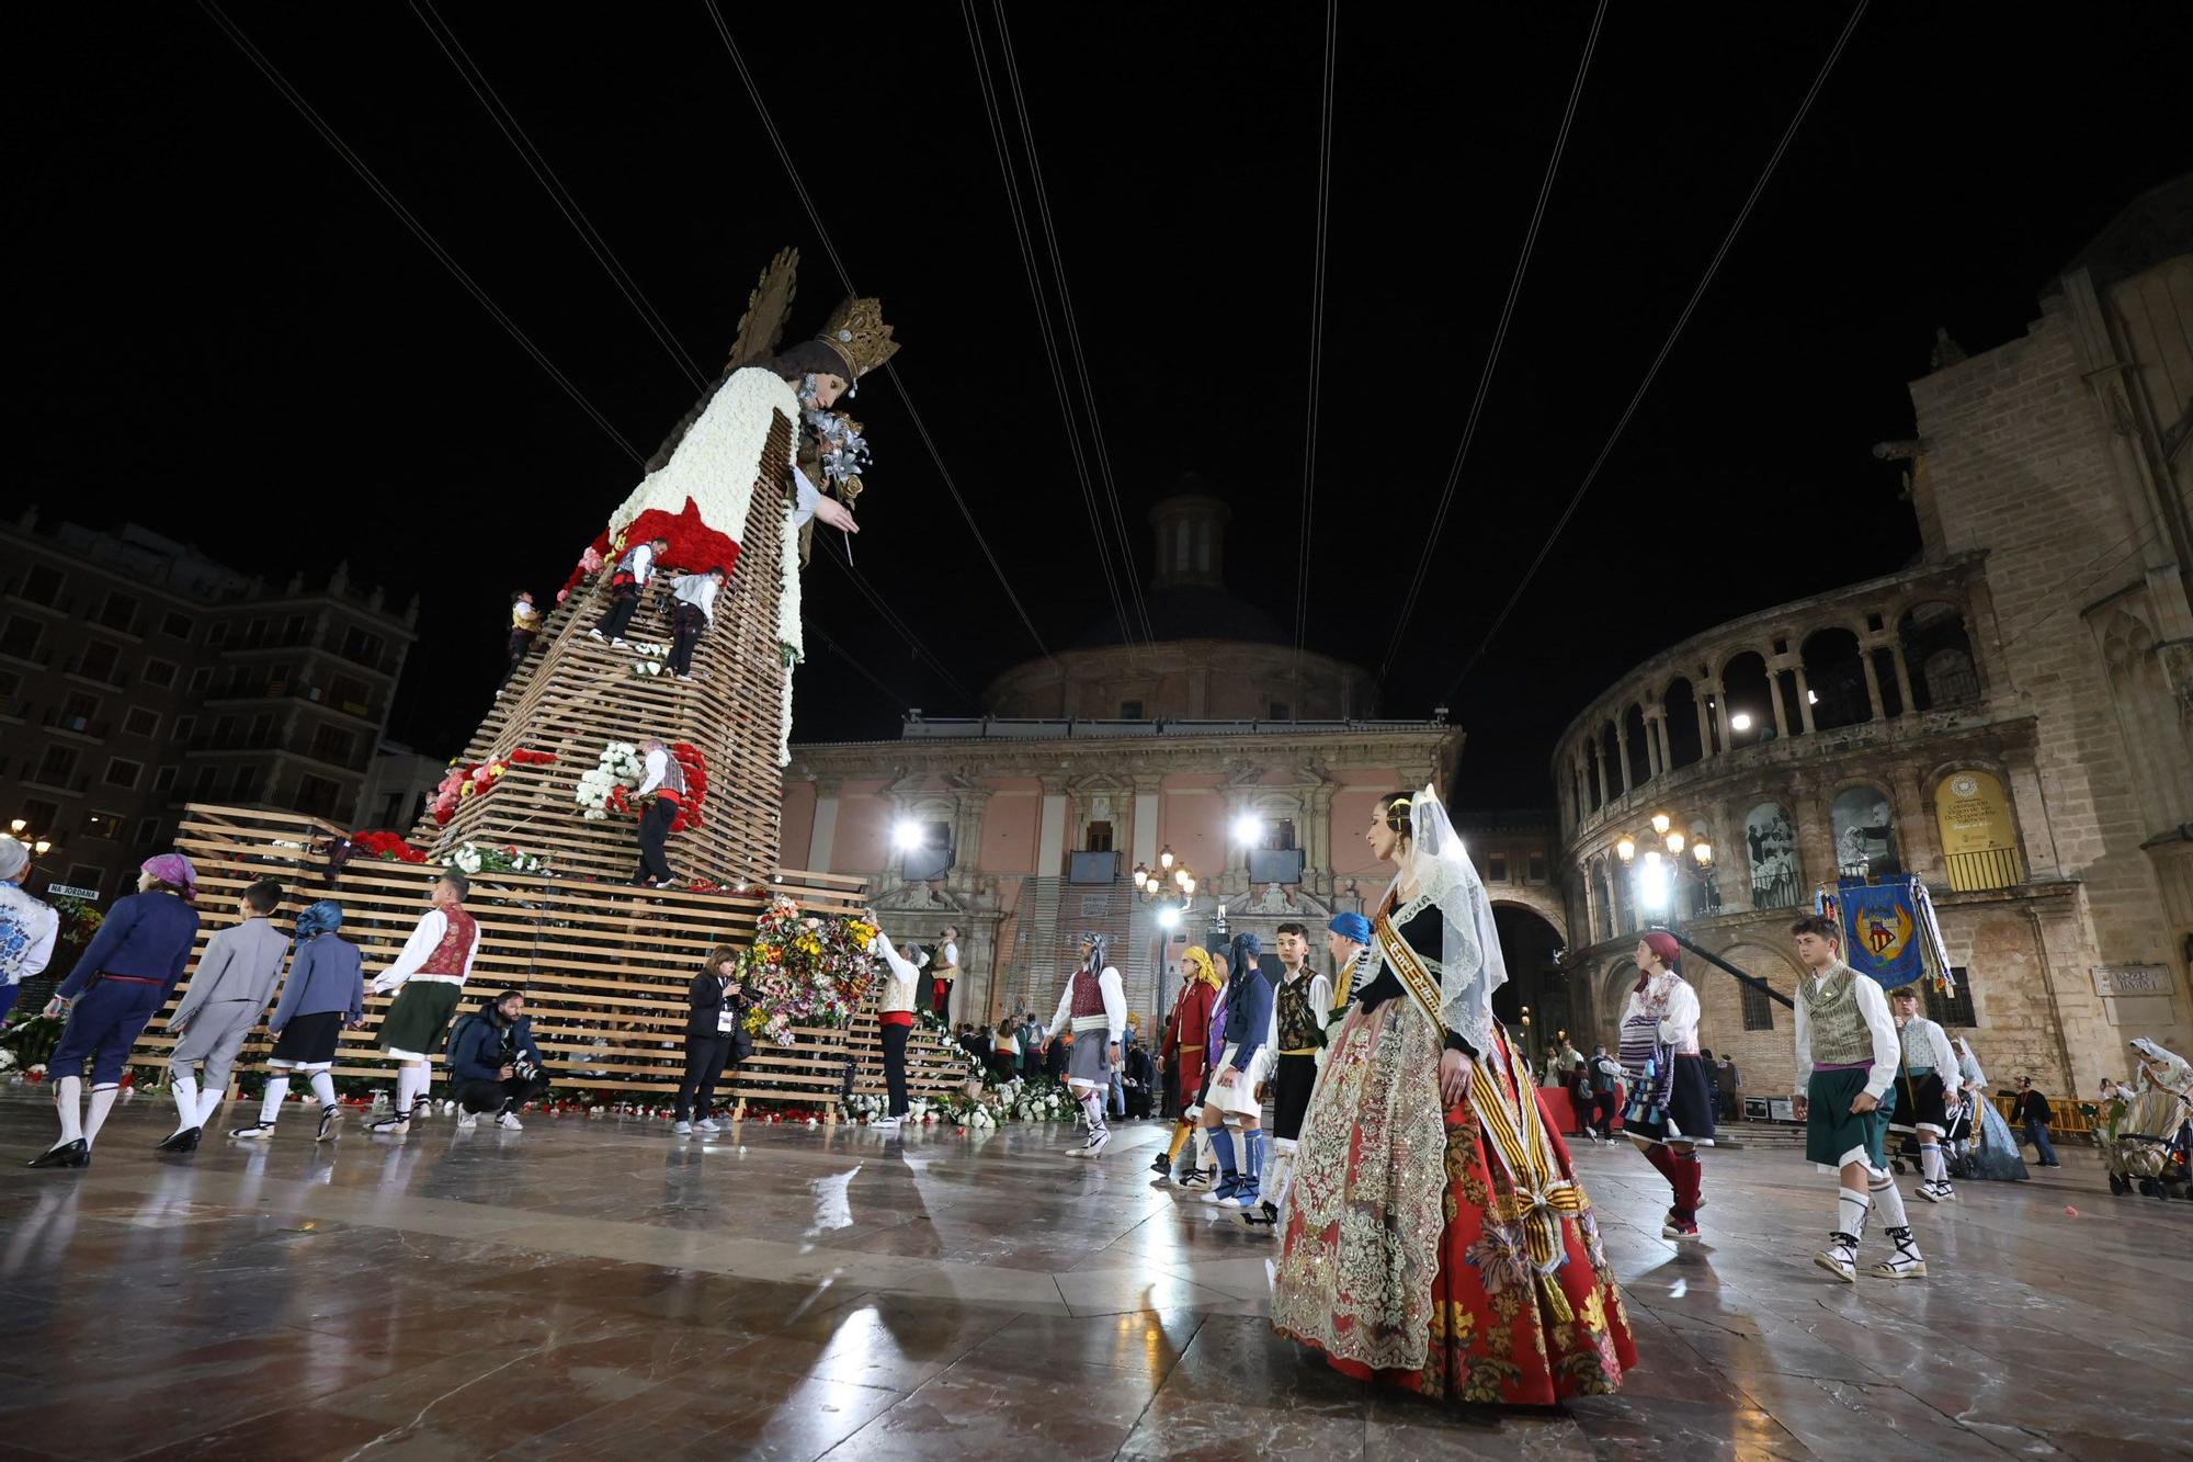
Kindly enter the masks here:
M 1921 1280 L 1925 1260 L 1912 1242 L 1904 1194 L 1888 1177 L 1882 1139 L 1895 1111 L 1897 1023 L 1879 983 L 1842 961 L 1842 929 L 1809 915 L 1789 926 L 1805 977 L 1796 981 L 1796 1117 L 1805 1157 L 1838 1172 L 1836 1229 L 1814 1256 L 1820 1269 L 1857 1282 L 1857 1245 L 1877 1207 L 1895 1253 L 1871 1269 L 1879 1280 Z M 1871 1199 L 1868 1199 L 1871 1192 Z

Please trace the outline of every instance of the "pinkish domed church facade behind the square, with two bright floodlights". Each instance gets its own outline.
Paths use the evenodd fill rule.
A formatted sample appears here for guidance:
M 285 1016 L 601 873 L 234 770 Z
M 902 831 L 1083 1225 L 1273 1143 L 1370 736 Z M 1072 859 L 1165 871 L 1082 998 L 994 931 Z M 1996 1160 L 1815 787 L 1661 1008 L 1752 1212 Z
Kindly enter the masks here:
M 1099 626 L 998 676 L 980 720 L 912 716 L 888 742 L 794 742 L 783 863 L 860 874 L 884 929 L 961 931 L 954 1019 L 1022 1005 L 1048 1019 L 1083 929 L 1112 935 L 1129 1008 L 1151 1030 L 1180 951 L 1281 922 L 1322 924 L 1386 887 L 1364 832 L 1399 788 L 1447 784 L 1463 733 L 1379 720 L 1371 676 L 1296 652 L 1224 588 L 1228 509 L 1182 494 L 1149 514 L 1151 637 Z M 1134 867 L 1197 878 L 1162 924 Z M 1550 880 L 1548 880 L 1550 887 Z

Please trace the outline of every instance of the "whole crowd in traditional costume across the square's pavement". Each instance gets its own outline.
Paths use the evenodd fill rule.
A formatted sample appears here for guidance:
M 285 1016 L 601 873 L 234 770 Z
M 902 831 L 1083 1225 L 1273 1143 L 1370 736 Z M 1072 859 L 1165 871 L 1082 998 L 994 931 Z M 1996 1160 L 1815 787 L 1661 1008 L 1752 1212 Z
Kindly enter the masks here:
M 1548 1117 L 1531 1062 L 1491 1014 L 1507 970 L 1485 889 L 1430 790 L 1384 799 L 1366 841 L 1395 867 L 1368 915 L 1338 913 L 1320 931 L 1279 924 L 1270 953 L 1252 933 L 1222 951 L 1186 948 L 1180 992 L 1154 1043 L 1127 1012 L 1101 931 L 1081 935 L 1048 1021 L 1020 1008 L 993 1025 L 963 1019 L 952 1034 L 998 1080 L 1064 1082 L 1086 1128 L 1079 1157 L 1107 1148 L 1112 1122 L 1169 1117 L 1154 1179 L 1276 1245 L 1274 1326 L 1338 1370 L 1482 1403 L 1548 1405 L 1616 1390 L 1636 1363 L 1636 1339 L 1564 1142 L 1568 1124 Z M 53 911 L 20 889 L 24 867 L 20 843 L 0 836 L 9 990 L 55 948 Z M 379 1047 L 395 1062 L 393 1111 L 373 1133 L 408 1133 L 436 1054 L 463 1109 L 458 1126 L 487 1117 L 520 1128 L 518 1113 L 544 1095 L 550 1069 L 522 992 L 500 990 L 461 1010 L 480 953 L 467 896 L 463 874 L 441 874 L 404 948 L 368 979 L 336 902 L 307 904 L 285 933 L 285 889 L 274 880 L 243 887 L 235 920 L 204 942 L 167 1016 L 178 1124 L 160 1150 L 200 1146 L 261 1025 L 274 1047 L 259 1113 L 226 1128 L 228 1137 L 272 1139 L 289 1084 L 303 1076 L 320 1106 L 314 1137 L 331 1142 L 342 1122 L 336 1043 L 364 1023 L 368 990 L 393 997 Z M 132 1047 L 191 970 L 197 900 L 189 858 L 145 861 L 138 891 L 114 902 L 59 981 L 48 1005 L 66 1021 L 50 1060 L 59 1133 L 33 1168 L 90 1166 Z M 1895 1177 L 1906 1152 L 1919 1170 L 1912 1194 L 1932 1205 L 1958 1201 L 1954 1177 L 2022 1177 L 2022 1161 L 2007 1126 L 2000 1135 L 1989 1126 L 2002 1117 L 1972 1045 L 1921 1014 L 1919 988 L 1884 990 L 1857 975 L 1825 915 L 1796 920 L 1792 951 L 1805 968 L 1792 1104 L 1807 1159 L 1836 1179 L 1829 1238 L 1814 1262 L 1847 1284 L 1862 1273 L 1923 1280 L 1919 1227 Z M 934 970 L 939 961 L 956 970 L 956 931 L 941 931 L 934 948 L 877 933 L 871 955 L 884 968 L 888 1104 L 879 1126 L 888 1131 L 908 1115 L 908 1032 L 919 1012 L 950 1010 L 952 981 Z M 1682 975 L 1682 946 L 1654 931 L 1634 959 L 1616 1049 L 1586 1056 L 1564 1036 L 1546 1082 L 1570 1093 L 1577 1135 L 1629 1139 L 1667 1181 L 1660 1234 L 1697 1242 L 1704 1157 L 1741 1082 L 1726 1054 L 1697 1043 L 1700 999 Z M 719 1131 L 715 1087 L 752 1049 L 737 968 L 735 948 L 715 948 L 686 992 L 680 1135 Z M 2103 1157 L 2118 1192 L 2136 1181 L 2158 1190 L 2193 1146 L 2193 1067 L 2149 1041 L 2134 1051 L 2134 1080 L 2112 1078 L 2099 1091 Z M 2011 1115 L 2037 1161 L 2057 1166 L 2055 1109 L 2031 1078 L 2018 1080 Z M 2007 1146 L 2015 1172 L 2000 1170 Z M 1991 1150 L 1998 1168 L 1972 1168 L 1974 1148 Z M 1862 1271 L 1868 1232 L 1884 1247 Z

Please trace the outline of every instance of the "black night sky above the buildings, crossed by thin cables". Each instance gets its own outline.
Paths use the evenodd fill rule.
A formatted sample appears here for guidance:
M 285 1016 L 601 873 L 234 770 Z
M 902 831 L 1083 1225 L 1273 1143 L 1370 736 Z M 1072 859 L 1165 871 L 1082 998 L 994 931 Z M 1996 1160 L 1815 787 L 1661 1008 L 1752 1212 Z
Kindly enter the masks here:
M 1583 509 L 1454 691 L 1461 801 L 1550 803 L 1553 738 L 1623 670 L 1917 553 L 1897 472 L 1868 448 L 1910 435 L 1904 382 L 1936 325 L 1974 351 L 2018 336 L 2079 246 L 2186 165 L 2173 11 L 1864 15 Z M 349 558 L 397 604 L 423 593 L 432 654 L 393 733 L 454 753 L 500 667 L 507 593 L 561 584 L 636 481 L 627 448 L 651 452 L 697 393 L 419 13 L 226 15 L 625 446 L 206 11 L 18 7 L 13 476 L 48 518 L 138 520 L 274 582 Z M 1292 626 L 1325 9 L 1015 15 L 1136 566 L 1147 580 L 1145 509 L 1197 472 L 1235 505 L 1235 588 Z M 844 290 L 702 4 L 603 24 L 443 0 L 441 18 L 711 375 L 779 246 L 803 250 L 789 338 L 820 325 Z M 1072 643 L 1110 599 L 963 13 L 724 18 L 853 283 L 884 299 L 895 378 L 1013 591 L 1053 648 Z M 1425 713 L 1482 641 L 1847 18 L 1612 7 L 1388 716 Z M 1590 22 L 1588 4 L 1342 7 L 1316 650 L 1386 659 Z M 1055 292 L 1042 233 L 1035 248 Z M 875 446 L 855 562 L 980 691 L 1035 643 L 895 380 L 853 411 Z M 982 709 L 838 569 L 818 560 L 807 584 L 822 634 L 800 740 L 893 735 L 908 705 Z

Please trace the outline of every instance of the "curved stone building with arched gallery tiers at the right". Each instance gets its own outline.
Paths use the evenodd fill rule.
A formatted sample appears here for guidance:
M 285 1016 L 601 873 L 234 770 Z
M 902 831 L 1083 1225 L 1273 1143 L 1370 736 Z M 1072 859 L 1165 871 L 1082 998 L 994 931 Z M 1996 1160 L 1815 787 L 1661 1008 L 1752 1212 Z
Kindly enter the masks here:
M 2127 209 L 2022 338 L 1943 338 L 1917 439 L 1875 448 L 1910 463 L 1919 562 L 1673 645 L 1568 727 L 1570 999 L 1601 1038 L 1647 902 L 1787 994 L 1789 920 L 1866 867 L 1928 882 L 1961 970 L 1932 1014 L 1993 1084 L 2092 1093 L 2134 1036 L 2193 1041 L 2186 239 L 2193 178 Z M 1702 1045 L 1787 1091 L 1787 1010 L 1691 975 Z

